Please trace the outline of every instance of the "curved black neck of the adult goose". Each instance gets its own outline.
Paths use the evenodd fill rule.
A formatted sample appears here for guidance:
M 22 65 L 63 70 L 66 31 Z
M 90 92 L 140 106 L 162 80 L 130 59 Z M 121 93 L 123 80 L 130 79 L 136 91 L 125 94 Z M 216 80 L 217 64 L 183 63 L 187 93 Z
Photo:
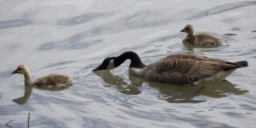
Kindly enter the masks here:
M 114 59 L 114 65 L 117 67 L 119 65 L 121 65 L 122 63 L 124 63 L 126 60 L 130 60 L 130 66 L 129 67 L 134 67 L 134 68 L 143 68 L 144 66 L 146 66 L 145 64 L 143 64 L 139 58 L 139 56 L 134 53 L 134 52 L 125 52 L 123 54 L 121 54 L 120 56 L 116 57 Z

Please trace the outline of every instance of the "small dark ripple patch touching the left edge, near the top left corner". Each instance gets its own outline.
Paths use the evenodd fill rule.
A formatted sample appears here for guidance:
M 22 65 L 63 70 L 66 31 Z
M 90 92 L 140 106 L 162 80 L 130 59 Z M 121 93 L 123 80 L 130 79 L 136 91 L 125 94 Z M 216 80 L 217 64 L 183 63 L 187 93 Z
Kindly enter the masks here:
M 9 21 L 0 21 L 0 29 L 10 28 L 10 27 L 18 27 L 32 24 L 33 21 L 28 19 L 17 19 L 17 20 L 9 20 Z

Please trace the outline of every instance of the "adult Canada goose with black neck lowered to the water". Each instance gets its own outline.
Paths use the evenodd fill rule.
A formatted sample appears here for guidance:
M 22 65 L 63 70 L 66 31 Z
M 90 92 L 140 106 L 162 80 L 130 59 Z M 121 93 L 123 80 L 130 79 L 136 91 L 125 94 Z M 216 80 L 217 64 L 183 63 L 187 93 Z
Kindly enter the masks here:
M 113 69 L 128 59 L 131 60 L 129 74 L 155 82 L 176 85 L 197 85 L 201 82 L 223 80 L 235 69 L 248 66 L 247 61 L 232 63 L 192 54 L 170 55 L 155 63 L 145 65 L 136 53 L 125 52 L 118 57 L 106 58 L 93 71 Z

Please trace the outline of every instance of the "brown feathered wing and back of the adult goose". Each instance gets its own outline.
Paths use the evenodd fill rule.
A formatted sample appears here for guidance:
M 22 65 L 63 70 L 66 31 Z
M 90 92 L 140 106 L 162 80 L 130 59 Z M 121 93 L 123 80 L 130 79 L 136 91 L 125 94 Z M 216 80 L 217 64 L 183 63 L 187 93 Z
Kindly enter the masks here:
M 172 84 L 190 84 L 199 78 L 211 76 L 235 65 L 197 61 L 192 59 L 169 59 L 148 65 L 154 73 L 149 76 L 153 81 Z

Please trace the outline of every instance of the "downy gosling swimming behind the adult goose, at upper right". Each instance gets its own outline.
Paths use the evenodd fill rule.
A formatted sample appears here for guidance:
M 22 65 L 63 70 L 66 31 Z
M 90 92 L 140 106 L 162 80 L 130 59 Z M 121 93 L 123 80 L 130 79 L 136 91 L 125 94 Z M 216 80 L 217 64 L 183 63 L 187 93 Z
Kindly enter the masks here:
M 222 39 L 209 33 L 195 34 L 194 27 L 192 25 L 186 25 L 180 32 L 188 33 L 188 35 L 182 40 L 183 43 L 205 46 L 216 46 L 223 43 Z

